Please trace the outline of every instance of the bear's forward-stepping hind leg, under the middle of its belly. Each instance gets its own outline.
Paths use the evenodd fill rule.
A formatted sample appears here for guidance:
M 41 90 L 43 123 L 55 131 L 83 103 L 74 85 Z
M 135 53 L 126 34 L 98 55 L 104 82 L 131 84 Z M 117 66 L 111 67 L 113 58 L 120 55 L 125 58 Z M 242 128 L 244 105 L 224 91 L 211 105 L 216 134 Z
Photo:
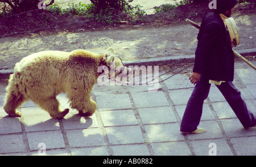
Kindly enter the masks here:
M 59 101 L 56 99 L 56 97 L 51 97 L 49 99 L 43 99 L 43 100 L 32 100 L 36 104 L 40 106 L 40 108 L 46 110 L 52 118 L 55 119 L 62 119 L 66 114 L 68 114 L 69 109 L 65 109 L 64 111 L 61 111 L 59 108 Z

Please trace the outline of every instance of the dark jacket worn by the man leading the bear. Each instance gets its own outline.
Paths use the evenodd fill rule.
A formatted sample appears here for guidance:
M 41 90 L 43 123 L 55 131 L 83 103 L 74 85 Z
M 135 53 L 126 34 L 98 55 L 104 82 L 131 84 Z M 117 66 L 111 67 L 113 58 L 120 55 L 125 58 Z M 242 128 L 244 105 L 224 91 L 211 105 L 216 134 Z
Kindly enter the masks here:
M 197 39 L 193 72 L 210 80 L 233 81 L 234 53 L 220 15 L 213 12 L 204 17 Z

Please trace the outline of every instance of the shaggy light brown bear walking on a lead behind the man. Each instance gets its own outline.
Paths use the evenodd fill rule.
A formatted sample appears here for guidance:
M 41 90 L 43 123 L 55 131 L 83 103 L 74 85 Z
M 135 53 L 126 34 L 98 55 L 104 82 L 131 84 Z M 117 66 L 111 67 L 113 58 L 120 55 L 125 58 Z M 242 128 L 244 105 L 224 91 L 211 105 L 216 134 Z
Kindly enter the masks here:
M 113 54 L 114 50 L 108 50 Z M 86 50 L 73 52 L 44 51 L 24 57 L 16 63 L 6 88 L 3 109 L 13 117 L 20 117 L 16 109 L 23 102 L 32 100 L 46 110 L 52 118 L 61 119 L 69 109 L 61 111 L 56 95 L 64 92 L 82 116 L 92 115 L 97 104 L 90 96 L 100 73 L 99 66 L 122 66 L 121 59 L 114 55 L 100 55 Z

